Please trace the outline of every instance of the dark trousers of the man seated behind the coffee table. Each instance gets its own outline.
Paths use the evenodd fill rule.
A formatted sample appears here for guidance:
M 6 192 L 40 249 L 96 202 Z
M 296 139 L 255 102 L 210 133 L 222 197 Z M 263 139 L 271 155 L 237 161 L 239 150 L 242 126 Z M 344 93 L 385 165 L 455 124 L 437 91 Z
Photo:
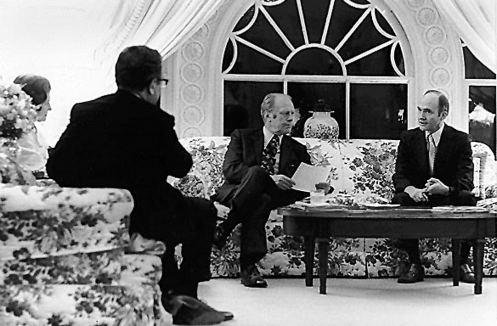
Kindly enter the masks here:
M 476 199 L 471 194 L 470 191 L 461 190 L 458 193 L 450 196 L 443 195 L 430 195 L 428 196 L 428 202 L 415 202 L 407 193 L 399 192 L 395 194 L 392 199 L 392 203 L 400 204 L 401 206 L 443 206 L 443 205 L 455 205 L 455 206 L 475 206 Z M 398 239 L 398 247 L 406 251 L 409 256 L 409 262 L 412 264 L 421 263 L 419 257 L 419 239 Z M 461 265 L 467 263 L 469 256 L 469 249 L 471 244 L 467 240 L 461 241 L 461 255 L 460 262 Z

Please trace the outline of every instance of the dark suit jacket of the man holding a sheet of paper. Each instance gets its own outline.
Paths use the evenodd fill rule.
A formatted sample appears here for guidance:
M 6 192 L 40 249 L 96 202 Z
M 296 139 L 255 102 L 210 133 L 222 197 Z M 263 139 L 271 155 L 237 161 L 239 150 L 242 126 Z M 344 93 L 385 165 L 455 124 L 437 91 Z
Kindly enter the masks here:
M 217 191 L 216 200 L 225 202 L 226 197 L 240 184 L 249 168 L 255 165 L 261 166 L 263 150 L 262 128 L 237 129 L 231 134 L 231 141 L 222 164 L 225 181 Z M 311 164 L 306 146 L 284 135 L 280 144 L 278 173 L 292 177 L 302 162 Z

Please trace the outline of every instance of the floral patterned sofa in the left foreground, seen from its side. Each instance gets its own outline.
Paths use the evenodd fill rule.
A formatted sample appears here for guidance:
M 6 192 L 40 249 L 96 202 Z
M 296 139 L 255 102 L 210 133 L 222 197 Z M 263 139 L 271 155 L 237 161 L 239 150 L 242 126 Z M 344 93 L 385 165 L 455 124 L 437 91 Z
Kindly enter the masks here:
M 164 324 L 160 258 L 127 252 L 132 208 L 120 189 L 0 184 L 0 324 Z

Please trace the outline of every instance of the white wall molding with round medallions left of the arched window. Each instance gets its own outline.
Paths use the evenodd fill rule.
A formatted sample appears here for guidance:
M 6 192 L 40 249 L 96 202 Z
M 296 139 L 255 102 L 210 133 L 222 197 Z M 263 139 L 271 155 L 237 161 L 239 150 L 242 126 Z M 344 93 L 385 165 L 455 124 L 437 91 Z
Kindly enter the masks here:
M 211 89 L 212 81 L 220 68 L 211 63 L 214 33 L 223 30 L 219 21 L 235 1 L 225 0 L 212 15 L 174 55 L 166 59 L 164 66 L 172 71 L 173 88 L 166 90 L 166 109 L 176 117 L 176 132 L 179 137 L 220 135 L 222 116 L 222 89 Z M 236 17 L 235 21 L 238 20 Z M 220 59 L 222 60 L 222 51 Z M 220 67 L 220 64 L 219 66 Z M 216 108 L 216 109 L 214 109 Z M 217 121 L 217 122 L 216 122 Z

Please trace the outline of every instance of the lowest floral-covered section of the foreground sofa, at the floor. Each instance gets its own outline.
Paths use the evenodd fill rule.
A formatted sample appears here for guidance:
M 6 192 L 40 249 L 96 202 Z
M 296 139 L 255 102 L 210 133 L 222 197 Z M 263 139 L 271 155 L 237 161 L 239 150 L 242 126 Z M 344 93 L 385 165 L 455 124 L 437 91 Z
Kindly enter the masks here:
M 165 311 L 150 285 L 3 285 L 2 325 L 159 325 Z

